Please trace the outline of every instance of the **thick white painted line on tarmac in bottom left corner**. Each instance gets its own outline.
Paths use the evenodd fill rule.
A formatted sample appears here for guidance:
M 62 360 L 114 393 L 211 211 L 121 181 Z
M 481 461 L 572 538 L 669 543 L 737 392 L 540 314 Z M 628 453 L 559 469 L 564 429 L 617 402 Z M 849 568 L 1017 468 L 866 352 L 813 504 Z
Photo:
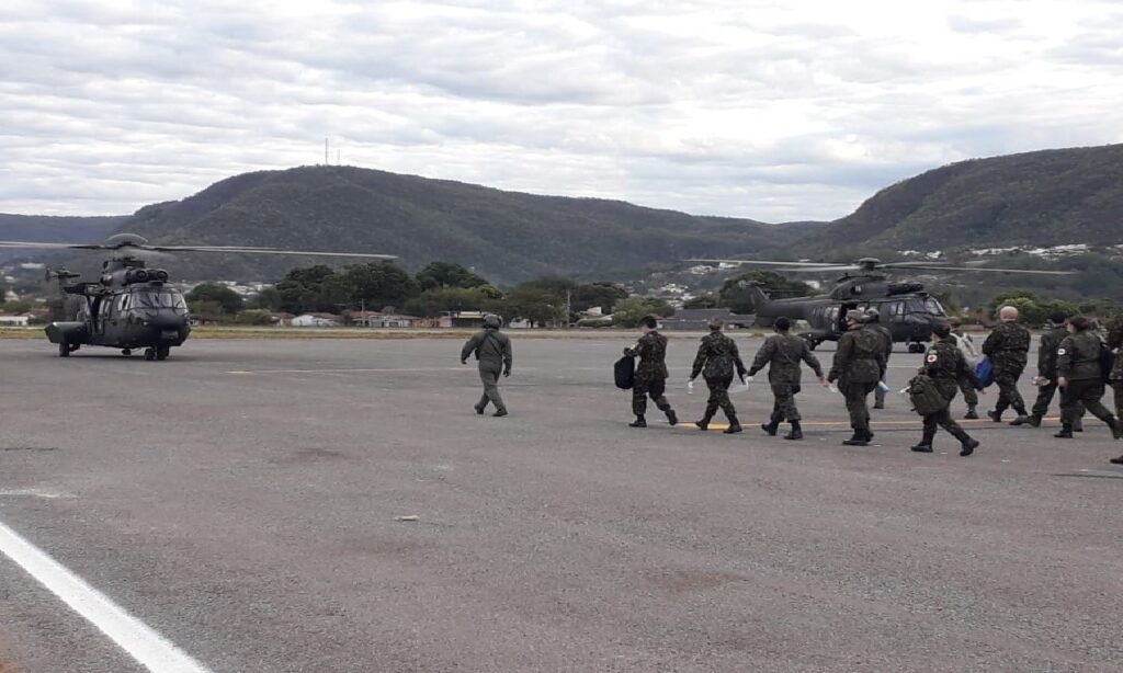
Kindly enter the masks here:
M 0 522 L 0 553 L 11 559 L 153 673 L 210 673 L 82 578 Z

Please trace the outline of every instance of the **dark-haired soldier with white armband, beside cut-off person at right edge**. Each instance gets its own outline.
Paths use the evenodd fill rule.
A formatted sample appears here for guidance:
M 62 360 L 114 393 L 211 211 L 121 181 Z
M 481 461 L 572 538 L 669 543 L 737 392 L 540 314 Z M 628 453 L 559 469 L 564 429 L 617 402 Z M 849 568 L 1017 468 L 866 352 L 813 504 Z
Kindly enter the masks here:
M 1099 336 L 1083 315 L 1070 317 L 1068 336 L 1057 349 L 1057 386 L 1060 388 L 1060 432 L 1054 437 L 1072 439 L 1072 424 L 1084 409 L 1112 428 L 1116 440 L 1123 426 L 1099 399 L 1104 396 L 1104 374 L 1099 368 Z

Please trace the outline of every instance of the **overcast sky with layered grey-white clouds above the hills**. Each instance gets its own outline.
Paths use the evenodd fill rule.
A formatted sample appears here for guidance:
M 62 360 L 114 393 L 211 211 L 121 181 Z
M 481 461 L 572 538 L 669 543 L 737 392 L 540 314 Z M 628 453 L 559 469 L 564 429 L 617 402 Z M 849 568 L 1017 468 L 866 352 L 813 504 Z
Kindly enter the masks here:
M 3 0 L 0 212 L 122 214 L 330 160 L 764 221 L 1123 141 L 1085 0 Z

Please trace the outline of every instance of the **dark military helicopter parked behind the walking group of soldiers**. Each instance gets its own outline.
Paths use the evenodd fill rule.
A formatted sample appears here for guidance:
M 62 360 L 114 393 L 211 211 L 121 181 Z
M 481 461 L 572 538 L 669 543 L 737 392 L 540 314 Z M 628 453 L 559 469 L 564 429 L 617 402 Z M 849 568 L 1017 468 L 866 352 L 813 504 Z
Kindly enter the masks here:
M 837 273 L 844 271 L 830 294 L 792 299 L 773 299 L 759 286 L 748 283 L 745 287 L 752 299 L 756 324 L 772 326 L 782 315 L 791 320 L 805 321 L 811 329 L 800 335 L 814 349 L 823 341 L 838 341 L 846 331 L 847 311 L 876 308 L 880 323 L 893 333 L 894 342 L 909 344 L 909 352 L 924 352 L 925 343 L 932 338 L 932 324 L 948 320 L 948 314 L 935 297 L 924 292 L 921 283 L 913 280 L 892 282 L 880 269 L 912 269 L 932 271 L 984 271 L 1001 274 L 1038 274 L 1066 276 L 1072 271 L 1046 271 L 1035 269 L 1008 269 L 989 267 L 939 266 L 924 261 L 882 262 L 874 257 L 864 257 L 853 264 L 839 265 L 814 261 L 775 261 L 760 259 L 690 259 L 702 264 L 736 264 L 782 267 L 777 271 Z M 857 271 L 857 273 L 853 273 Z

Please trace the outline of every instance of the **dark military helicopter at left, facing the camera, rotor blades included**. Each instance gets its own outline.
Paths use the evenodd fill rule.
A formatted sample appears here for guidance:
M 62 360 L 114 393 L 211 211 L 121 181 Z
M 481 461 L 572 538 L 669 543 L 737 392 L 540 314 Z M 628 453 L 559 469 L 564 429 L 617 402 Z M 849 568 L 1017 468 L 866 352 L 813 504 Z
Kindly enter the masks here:
M 47 269 L 47 279 L 58 282 L 70 299 L 72 320 L 53 322 L 47 339 L 58 344 L 58 356 L 66 358 L 83 345 L 120 349 L 130 356 L 144 350 L 145 360 L 165 360 L 172 348 L 183 345 L 191 333 L 188 303 L 175 288 L 166 285 L 167 271 L 148 268 L 143 257 L 158 252 L 216 252 L 243 255 L 302 255 L 395 259 L 393 255 L 282 250 L 247 246 L 152 246 L 135 233 L 119 233 L 103 243 L 35 243 L 0 241 L 0 248 L 26 250 L 109 250 L 101 264 L 101 277 L 94 282 L 71 283 L 80 277 L 66 269 Z

